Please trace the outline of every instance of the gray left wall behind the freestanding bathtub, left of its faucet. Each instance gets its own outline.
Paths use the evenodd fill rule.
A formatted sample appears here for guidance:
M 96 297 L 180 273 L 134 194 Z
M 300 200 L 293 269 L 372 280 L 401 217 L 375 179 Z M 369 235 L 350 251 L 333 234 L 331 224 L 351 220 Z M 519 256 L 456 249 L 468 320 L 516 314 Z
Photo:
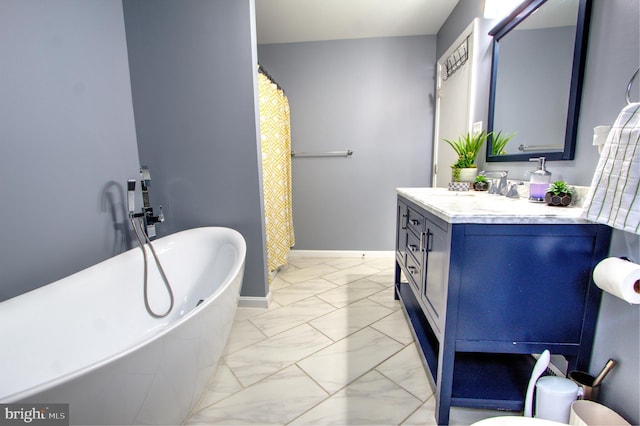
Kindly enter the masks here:
M 0 300 L 130 247 L 122 4 L 0 2 Z

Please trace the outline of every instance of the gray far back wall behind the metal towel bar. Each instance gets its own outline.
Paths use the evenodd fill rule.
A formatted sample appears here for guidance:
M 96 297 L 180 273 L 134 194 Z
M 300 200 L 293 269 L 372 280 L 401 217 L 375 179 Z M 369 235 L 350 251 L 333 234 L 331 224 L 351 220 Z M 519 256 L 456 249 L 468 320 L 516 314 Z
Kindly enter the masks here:
M 393 250 L 395 188 L 431 180 L 435 37 L 258 46 L 284 88 L 293 158 L 296 249 Z

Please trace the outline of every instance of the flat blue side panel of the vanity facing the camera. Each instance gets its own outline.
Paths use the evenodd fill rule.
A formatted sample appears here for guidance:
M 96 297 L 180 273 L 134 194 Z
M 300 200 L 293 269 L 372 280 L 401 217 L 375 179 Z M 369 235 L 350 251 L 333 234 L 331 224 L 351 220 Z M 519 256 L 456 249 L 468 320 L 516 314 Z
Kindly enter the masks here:
M 592 228 L 465 229 L 458 339 L 580 343 L 596 247 Z

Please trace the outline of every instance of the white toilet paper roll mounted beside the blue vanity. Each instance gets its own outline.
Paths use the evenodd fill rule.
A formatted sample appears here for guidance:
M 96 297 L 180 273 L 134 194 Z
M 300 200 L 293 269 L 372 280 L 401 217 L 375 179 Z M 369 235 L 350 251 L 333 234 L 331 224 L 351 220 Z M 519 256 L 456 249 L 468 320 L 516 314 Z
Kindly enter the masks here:
M 596 265 L 593 281 L 607 293 L 629 303 L 640 304 L 640 265 L 608 257 Z

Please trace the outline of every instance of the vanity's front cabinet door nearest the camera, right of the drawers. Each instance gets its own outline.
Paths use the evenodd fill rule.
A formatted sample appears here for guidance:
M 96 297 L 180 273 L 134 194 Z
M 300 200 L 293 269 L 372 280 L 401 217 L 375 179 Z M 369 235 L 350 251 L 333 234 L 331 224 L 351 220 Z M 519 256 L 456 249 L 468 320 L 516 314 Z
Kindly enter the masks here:
M 424 246 L 426 252 L 425 281 L 422 297 L 426 307 L 439 323 L 444 315 L 445 293 L 449 265 L 447 232 L 434 222 L 426 221 Z

